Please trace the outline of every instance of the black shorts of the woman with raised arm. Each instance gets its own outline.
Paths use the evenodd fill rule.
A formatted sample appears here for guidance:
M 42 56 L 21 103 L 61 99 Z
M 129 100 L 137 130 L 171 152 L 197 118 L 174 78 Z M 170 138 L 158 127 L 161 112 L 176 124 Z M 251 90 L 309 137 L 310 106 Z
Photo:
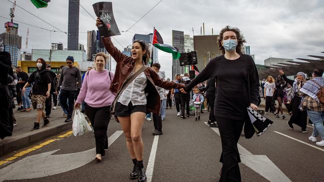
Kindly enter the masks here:
M 116 102 L 115 116 L 130 116 L 134 112 L 144 112 L 146 114 L 146 105 L 133 105 L 132 102 L 130 102 L 126 106 L 121 104 L 120 102 Z

